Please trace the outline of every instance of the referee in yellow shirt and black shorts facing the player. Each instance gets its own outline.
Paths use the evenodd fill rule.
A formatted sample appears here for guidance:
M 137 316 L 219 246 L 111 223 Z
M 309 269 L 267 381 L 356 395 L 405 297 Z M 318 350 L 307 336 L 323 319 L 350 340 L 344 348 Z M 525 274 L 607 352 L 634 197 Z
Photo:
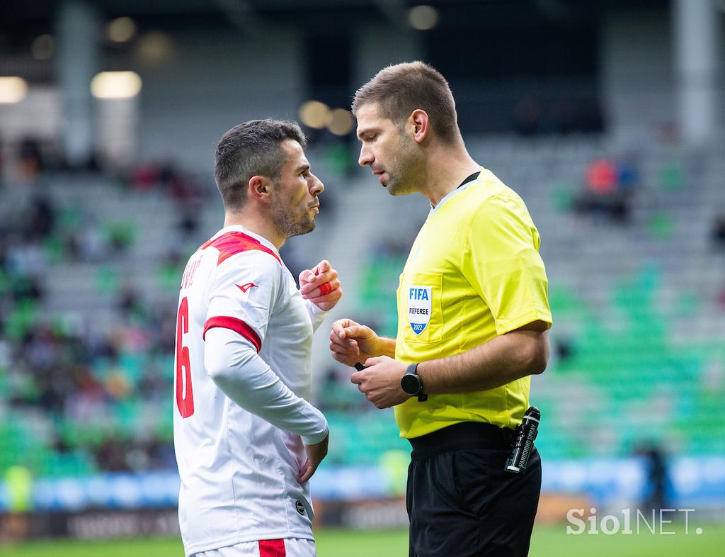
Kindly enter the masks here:
M 386 67 L 355 94 L 362 166 L 389 194 L 431 203 L 398 289 L 395 339 L 342 319 L 336 360 L 395 407 L 413 446 L 410 556 L 524 556 L 541 488 L 534 450 L 504 471 L 513 429 L 544 371 L 552 318 L 539 234 L 512 189 L 468 154 L 448 83 L 432 67 Z

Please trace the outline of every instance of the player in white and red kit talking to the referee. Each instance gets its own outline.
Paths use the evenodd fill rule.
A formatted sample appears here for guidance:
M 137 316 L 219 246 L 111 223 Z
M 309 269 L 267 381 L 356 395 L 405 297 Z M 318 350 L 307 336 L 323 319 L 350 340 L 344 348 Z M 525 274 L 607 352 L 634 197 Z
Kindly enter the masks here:
M 307 480 L 328 424 L 310 405 L 312 333 L 342 291 L 327 261 L 297 289 L 279 255 L 315 228 L 324 186 L 295 123 L 220 139 L 224 228 L 191 256 L 176 323 L 174 445 L 186 556 L 315 555 Z

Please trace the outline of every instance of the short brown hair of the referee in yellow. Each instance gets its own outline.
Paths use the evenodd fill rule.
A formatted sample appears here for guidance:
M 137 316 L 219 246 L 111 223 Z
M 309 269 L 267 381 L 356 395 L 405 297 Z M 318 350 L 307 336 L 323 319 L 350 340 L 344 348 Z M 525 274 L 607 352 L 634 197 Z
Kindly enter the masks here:
M 447 143 L 460 134 L 448 82 L 423 62 L 405 62 L 380 70 L 355 92 L 352 113 L 372 103 L 378 104 L 382 117 L 396 125 L 403 125 L 413 110 L 425 110 L 436 135 Z

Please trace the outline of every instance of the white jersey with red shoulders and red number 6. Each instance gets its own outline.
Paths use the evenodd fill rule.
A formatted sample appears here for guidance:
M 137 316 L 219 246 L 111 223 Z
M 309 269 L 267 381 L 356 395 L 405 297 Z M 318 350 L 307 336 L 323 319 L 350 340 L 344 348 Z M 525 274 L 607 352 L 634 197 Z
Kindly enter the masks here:
M 274 245 L 242 226 L 223 228 L 189 259 L 174 379 L 187 556 L 239 542 L 314 539 L 309 482 L 297 478 L 303 440 L 327 434 L 325 418 L 307 403 L 312 333 L 323 316 L 302 299 Z

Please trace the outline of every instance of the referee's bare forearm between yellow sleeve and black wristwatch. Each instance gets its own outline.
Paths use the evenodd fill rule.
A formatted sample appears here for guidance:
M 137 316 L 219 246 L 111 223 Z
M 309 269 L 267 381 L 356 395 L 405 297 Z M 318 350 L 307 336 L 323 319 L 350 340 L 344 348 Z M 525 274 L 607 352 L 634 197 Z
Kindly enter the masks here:
M 429 394 L 474 392 L 540 374 L 549 358 L 546 332 L 511 331 L 468 352 L 418 366 Z

